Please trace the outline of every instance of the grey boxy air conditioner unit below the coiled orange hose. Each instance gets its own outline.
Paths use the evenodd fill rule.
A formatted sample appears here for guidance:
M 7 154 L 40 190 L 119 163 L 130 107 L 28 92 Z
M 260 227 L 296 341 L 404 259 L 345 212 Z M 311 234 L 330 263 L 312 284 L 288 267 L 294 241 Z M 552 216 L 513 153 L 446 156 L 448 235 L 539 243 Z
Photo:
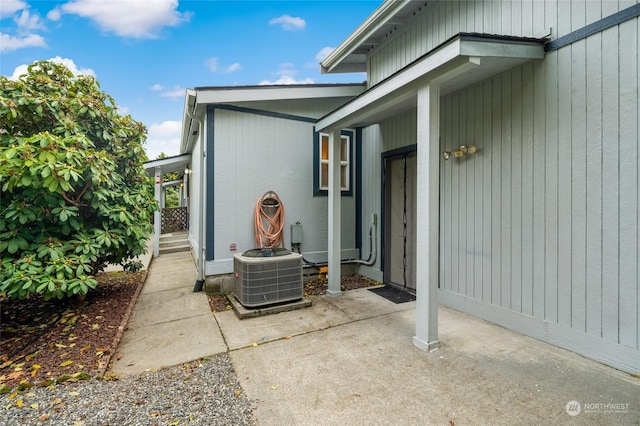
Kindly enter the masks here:
M 235 295 L 247 307 L 302 299 L 302 255 L 284 248 L 253 249 L 233 256 Z

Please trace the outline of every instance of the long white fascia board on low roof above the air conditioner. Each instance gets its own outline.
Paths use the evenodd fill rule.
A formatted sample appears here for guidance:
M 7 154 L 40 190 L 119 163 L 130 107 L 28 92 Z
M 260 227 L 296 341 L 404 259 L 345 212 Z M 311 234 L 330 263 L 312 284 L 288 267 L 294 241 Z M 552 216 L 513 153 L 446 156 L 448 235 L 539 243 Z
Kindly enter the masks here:
M 361 94 L 364 84 L 357 85 L 310 85 L 305 86 L 251 86 L 198 89 L 197 102 L 217 104 L 230 102 L 279 101 L 291 99 L 318 99 L 353 97 Z

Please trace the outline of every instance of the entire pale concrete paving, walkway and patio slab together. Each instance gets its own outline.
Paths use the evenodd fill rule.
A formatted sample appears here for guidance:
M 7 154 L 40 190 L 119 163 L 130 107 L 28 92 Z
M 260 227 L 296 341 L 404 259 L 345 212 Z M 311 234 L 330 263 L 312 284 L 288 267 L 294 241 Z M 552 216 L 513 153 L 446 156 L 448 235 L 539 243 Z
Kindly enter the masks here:
M 415 302 L 361 289 L 239 320 L 212 315 L 195 278 L 189 253 L 152 262 L 113 372 L 228 352 L 262 425 L 640 424 L 640 379 L 450 309 L 427 353 Z

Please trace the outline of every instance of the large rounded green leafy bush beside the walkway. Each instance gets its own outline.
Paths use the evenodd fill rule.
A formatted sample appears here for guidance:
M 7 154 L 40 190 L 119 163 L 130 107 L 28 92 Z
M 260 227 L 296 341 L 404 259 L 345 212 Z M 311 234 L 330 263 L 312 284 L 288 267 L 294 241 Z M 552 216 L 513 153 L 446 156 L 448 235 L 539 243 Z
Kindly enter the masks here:
M 63 65 L 0 77 L 0 294 L 84 295 L 108 263 L 140 266 L 156 209 L 145 134 Z

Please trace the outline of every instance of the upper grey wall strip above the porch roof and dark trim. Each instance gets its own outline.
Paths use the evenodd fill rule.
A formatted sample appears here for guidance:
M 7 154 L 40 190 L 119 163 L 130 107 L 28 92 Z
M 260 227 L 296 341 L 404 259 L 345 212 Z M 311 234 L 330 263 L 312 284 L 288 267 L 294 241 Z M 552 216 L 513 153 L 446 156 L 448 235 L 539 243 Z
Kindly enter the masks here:
M 554 39 L 636 4 L 608 0 L 430 1 L 368 55 L 369 85 L 460 32 Z

